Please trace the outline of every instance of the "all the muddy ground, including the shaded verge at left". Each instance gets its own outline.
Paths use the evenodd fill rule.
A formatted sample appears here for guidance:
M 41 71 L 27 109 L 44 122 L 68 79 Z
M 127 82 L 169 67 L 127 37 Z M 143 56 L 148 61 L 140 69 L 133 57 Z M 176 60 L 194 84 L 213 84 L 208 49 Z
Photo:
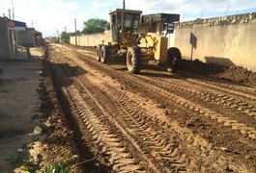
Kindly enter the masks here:
M 246 69 L 183 61 L 177 74 L 147 65 L 132 75 L 61 44 L 1 66 L 4 172 L 52 162 L 70 172 L 256 172 L 255 73 Z

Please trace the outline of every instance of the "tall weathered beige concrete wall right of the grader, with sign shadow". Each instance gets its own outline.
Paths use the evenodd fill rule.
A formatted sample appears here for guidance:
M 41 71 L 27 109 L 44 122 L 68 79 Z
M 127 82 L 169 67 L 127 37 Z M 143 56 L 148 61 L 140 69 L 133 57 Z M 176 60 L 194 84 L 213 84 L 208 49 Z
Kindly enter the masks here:
M 187 59 L 256 71 L 256 13 L 178 23 L 175 46 Z

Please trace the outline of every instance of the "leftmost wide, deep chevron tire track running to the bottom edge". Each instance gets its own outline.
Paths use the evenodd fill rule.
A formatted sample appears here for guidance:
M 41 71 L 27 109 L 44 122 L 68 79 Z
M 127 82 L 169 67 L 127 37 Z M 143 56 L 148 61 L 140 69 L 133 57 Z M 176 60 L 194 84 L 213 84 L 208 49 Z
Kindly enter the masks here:
M 90 95 L 88 98 L 88 95 L 84 97 L 85 95 L 82 94 L 81 96 L 81 92 L 75 88 L 71 90 L 69 89 L 68 94 L 71 95 L 74 108 L 78 111 L 77 118 L 80 119 L 79 124 L 82 127 L 82 131 L 87 131 L 97 145 L 96 147 L 100 149 L 97 153 L 107 158 L 109 165 L 112 166 L 114 171 L 144 172 L 142 166 L 134 161 L 133 157 L 128 153 L 128 149 L 121 142 L 121 138 L 116 136 L 109 125 L 105 124 L 105 119 L 101 120 L 100 115 L 86 103 L 85 100 L 93 99 L 91 93 L 88 90 L 86 91 Z M 103 114 L 109 116 L 105 111 Z

